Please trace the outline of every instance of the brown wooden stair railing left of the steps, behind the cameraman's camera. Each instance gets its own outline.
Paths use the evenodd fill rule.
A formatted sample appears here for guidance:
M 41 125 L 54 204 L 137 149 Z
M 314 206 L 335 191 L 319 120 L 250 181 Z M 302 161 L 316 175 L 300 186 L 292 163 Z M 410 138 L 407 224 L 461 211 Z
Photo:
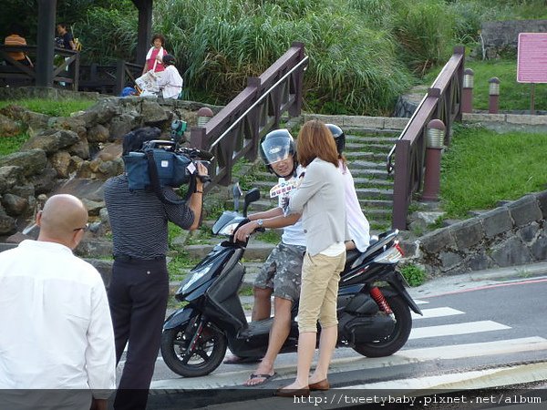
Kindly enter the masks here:
M 294 43 L 260 77 L 248 78 L 247 87 L 203 128 L 191 128 L 191 146 L 214 155 L 207 190 L 229 185 L 238 159 L 256 159 L 260 139 L 278 128 L 284 112 L 300 115 L 307 60 L 304 44 Z

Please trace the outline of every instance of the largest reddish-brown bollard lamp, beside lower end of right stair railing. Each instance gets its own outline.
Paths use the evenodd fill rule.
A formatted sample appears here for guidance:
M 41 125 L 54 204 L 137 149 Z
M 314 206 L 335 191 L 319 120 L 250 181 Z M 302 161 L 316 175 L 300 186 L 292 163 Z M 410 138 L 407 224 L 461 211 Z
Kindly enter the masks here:
M 444 144 L 446 127 L 440 119 L 432 119 L 426 128 L 426 175 L 422 200 L 439 199 L 440 157 Z

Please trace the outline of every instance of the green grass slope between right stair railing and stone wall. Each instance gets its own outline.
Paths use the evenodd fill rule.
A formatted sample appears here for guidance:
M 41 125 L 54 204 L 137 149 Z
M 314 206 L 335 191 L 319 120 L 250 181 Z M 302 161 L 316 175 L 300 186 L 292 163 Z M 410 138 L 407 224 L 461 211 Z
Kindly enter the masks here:
M 542 134 L 456 128 L 441 164 L 440 199 L 447 217 L 466 218 L 469 210 L 492 209 L 499 200 L 547 189 L 545 152 Z

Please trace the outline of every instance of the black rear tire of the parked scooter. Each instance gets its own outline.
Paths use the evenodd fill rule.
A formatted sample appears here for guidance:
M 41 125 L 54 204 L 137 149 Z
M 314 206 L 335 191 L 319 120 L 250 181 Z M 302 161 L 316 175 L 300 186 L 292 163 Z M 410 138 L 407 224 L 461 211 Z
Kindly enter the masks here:
M 385 339 L 357 344 L 354 350 L 366 357 L 385 357 L 396 353 L 408 341 L 412 330 L 412 316 L 408 303 L 400 296 L 386 296 L 387 303 L 395 315 L 395 328 Z

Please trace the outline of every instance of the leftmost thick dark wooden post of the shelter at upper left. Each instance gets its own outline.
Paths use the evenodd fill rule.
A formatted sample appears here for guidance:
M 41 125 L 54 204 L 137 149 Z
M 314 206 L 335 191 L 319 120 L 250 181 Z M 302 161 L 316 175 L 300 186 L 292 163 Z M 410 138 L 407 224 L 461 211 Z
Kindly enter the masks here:
M 57 0 L 38 0 L 36 87 L 53 87 L 53 53 Z

